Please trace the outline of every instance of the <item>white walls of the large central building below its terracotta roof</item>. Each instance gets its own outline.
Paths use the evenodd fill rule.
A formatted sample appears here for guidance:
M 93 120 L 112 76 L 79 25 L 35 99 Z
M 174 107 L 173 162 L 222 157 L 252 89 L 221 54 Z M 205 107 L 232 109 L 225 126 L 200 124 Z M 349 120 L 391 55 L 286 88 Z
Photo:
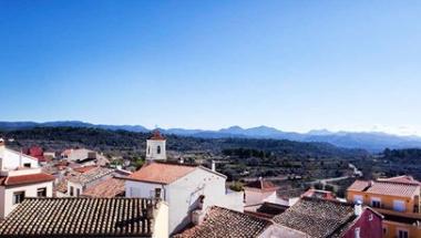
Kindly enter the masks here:
M 168 204 L 170 234 L 179 231 L 191 223 L 191 214 L 197 209 L 199 196 L 204 196 L 203 209 L 219 206 L 243 211 L 243 193 L 226 193 L 226 177 L 197 167 L 168 185 L 126 180 L 126 197 L 153 197 L 155 188 L 162 188 L 162 197 Z

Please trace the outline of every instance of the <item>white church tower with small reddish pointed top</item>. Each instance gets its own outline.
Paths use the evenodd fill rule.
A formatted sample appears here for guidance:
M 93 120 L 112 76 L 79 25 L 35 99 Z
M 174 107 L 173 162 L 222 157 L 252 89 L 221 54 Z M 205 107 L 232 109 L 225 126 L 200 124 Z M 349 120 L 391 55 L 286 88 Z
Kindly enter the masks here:
M 166 161 L 165 137 L 155 130 L 150 138 L 146 139 L 146 161 Z

